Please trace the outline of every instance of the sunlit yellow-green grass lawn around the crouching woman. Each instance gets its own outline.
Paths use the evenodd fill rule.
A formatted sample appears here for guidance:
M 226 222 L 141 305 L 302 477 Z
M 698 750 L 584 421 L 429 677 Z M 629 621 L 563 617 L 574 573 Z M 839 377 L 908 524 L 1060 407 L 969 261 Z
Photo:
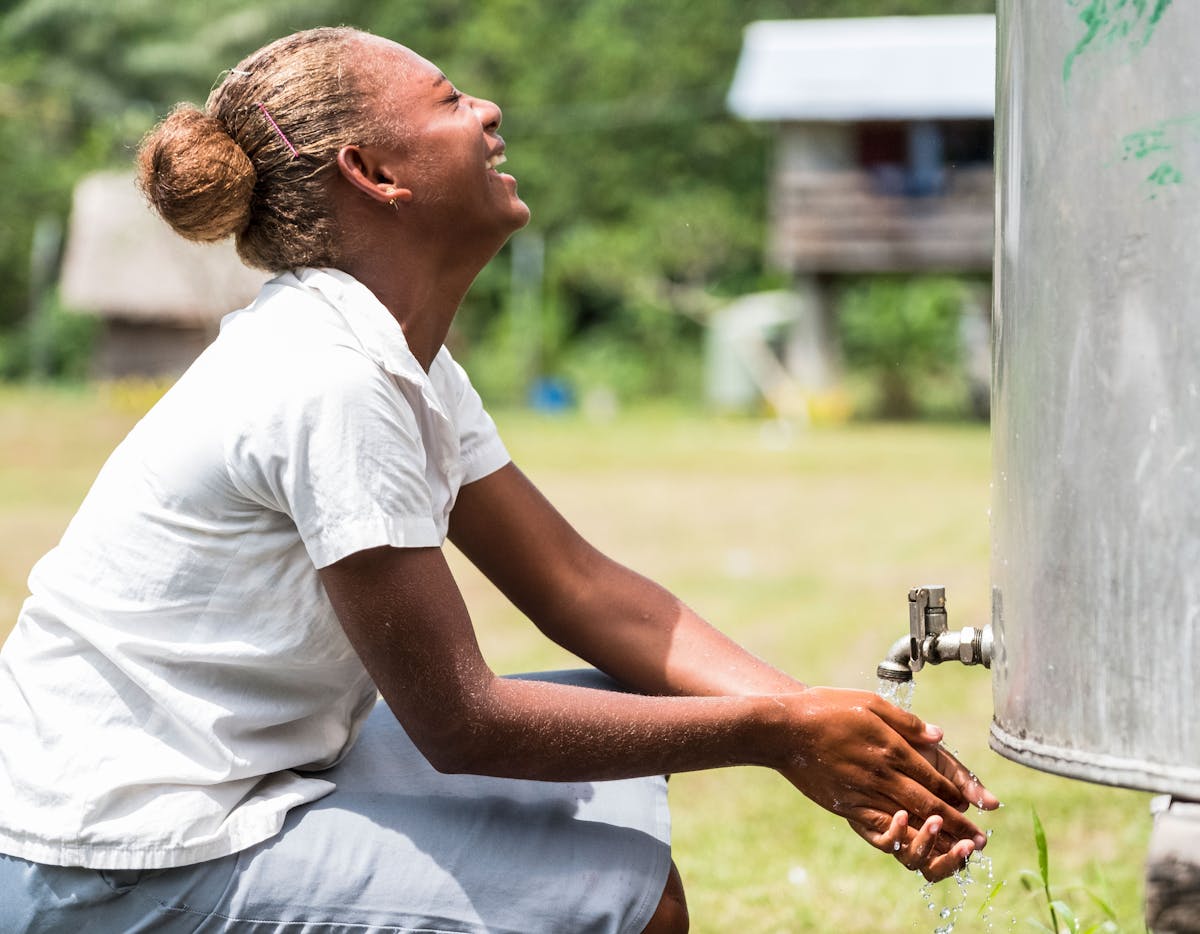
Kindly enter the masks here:
M 0 636 L 25 576 L 70 520 L 144 400 L 102 390 L 0 390 Z M 587 535 L 665 583 L 716 625 L 810 683 L 874 688 L 907 631 L 906 594 L 944 583 L 952 627 L 986 621 L 989 443 L 982 427 L 784 431 L 757 421 L 644 411 L 606 423 L 498 413 L 514 459 Z M 499 671 L 575 663 L 547 645 L 452 555 L 480 641 Z M 988 673 L 919 676 L 914 710 L 1006 802 L 983 822 L 1003 887 L 972 869 L 955 930 L 1030 929 L 1044 908 L 1031 809 L 1049 838 L 1055 894 L 1081 917 L 1110 905 L 1140 932 L 1148 796 L 1013 765 L 988 749 Z M 932 932 L 953 881 L 918 876 L 862 843 L 763 770 L 672 778 L 676 858 L 692 929 Z

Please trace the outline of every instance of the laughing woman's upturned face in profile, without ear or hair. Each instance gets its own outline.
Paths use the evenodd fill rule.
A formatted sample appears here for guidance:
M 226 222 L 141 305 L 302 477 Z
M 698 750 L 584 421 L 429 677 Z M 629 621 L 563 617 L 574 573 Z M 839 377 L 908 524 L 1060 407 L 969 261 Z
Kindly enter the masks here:
M 424 210 L 460 237 L 476 224 L 505 237 L 524 227 L 529 208 L 517 197 L 517 181 L 497 170 L 504 158 L 500 108 L 461 94 L 433 64 L 395 42 L 373 40 L 371 53 L 377 119 L 397 131 L 397 182 L 413 193 L 404 210 Z

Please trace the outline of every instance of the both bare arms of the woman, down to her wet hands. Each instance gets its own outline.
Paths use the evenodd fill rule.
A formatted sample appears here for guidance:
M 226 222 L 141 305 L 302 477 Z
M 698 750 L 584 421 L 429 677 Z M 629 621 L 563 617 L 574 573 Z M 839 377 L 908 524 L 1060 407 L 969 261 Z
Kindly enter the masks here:
M 552 637 L 635 689 L 677 696 L 498 678 L 440 550 L 352 555 L 322 580 L 384 697 L 434 766 L 599 780 L 767 765 L 880 849 L 900 843 L 898 858 L 929 878 L 949 874 L 982 843 L 959 813 L 965 770 L 943 774 L 930 761 L 940 731 L 872 694 L 809 689 L 749 655 L 581 544 L 516 468 L 464 487 L 451 534 Z M 590 593 L 610 586 L 608 599 Z M 908 827 L 898 812 L 925 824 Z

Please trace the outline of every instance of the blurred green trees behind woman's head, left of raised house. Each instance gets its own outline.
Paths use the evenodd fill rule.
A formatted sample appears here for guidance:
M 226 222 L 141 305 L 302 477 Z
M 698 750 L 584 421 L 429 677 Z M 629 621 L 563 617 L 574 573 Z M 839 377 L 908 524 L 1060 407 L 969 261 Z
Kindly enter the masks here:
M 604 354 L 646 371 L 623 377 L 619 391 L 671 388 L 676 367 L 664 354 L 698 354 L 690 319 L 720 295 L 773 285 L 762 269 L 770 133 L 725 109 L 743 28 L 992 8 L 994 0 L 0 0 L 0 333 L 36 305 L 34 224 L 66 216 L 80 175 L 128 166 L 157 116 L 179 100 L 203 102 L 223 70 L 264 42 L 346 23 L 410 46 L 504 108 L 510 164 L 545 244 L 542 298 L 533 311 L 514 309 L 508 257 L 493 263 L 460 315 L 464 355 L 486 357 L 497 376 L 506 369 L 494 382 L 510 388 Z M 583 337 L 602 339 L 601 348 L 583 351 Z

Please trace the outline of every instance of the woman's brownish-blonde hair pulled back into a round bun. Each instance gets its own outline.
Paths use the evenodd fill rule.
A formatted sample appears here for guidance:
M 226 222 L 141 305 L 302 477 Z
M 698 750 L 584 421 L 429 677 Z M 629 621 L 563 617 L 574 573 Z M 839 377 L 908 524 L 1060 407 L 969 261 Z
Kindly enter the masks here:
M 355 77 L 367 36 L 349 28 L 286 36 L 232 68 L 203 110 L 178 104 L 138 151 L 150 204 L 190 240 L 234 237 L 258 269 L 336 265 L 337 150 L 378 133 Z

